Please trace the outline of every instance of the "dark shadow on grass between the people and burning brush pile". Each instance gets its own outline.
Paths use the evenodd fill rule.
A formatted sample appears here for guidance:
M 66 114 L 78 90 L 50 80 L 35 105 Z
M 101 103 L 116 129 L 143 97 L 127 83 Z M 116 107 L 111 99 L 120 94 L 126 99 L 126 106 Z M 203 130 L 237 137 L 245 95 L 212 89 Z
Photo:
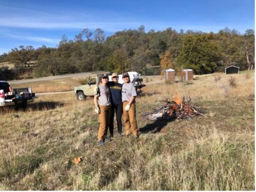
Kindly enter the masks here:
M 168 120 L 163 120 L 163 119 L 158 119 L 154 121 L 151 124 L 147 124 L 144 127 L 140 128 L 139 131 L 141 133 L 158 133 L 161 131 L 162 128 L 164 128 L 169 122 L 175 121 L 175 119 L 168 119 Z

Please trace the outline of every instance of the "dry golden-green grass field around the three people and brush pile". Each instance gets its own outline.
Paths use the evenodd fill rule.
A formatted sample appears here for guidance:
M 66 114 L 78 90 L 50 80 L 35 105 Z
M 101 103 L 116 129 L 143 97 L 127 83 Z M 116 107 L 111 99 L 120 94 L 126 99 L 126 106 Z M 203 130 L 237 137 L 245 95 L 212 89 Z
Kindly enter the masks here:
M 114 137 L 103 147 L 91 98 L 44 95 L 26 111 L 3 109 L 0 189 L 254 190 L 254 73 L 143 89 L 136 99 L 139 139 Z M 205 116 L 145 119 L 166 98 L 183 96 Z

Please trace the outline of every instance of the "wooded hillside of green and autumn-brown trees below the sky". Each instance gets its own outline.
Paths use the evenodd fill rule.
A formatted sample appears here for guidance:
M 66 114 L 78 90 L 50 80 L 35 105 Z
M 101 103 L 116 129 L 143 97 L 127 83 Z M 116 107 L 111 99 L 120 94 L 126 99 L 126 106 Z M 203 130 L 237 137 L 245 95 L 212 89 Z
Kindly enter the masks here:
M 56 48 L 20 45 L 0 55 L 0 62 L 7 61 L 15 63 L 15 68 L 1 67 L 0 79 L 17 79 L 22 73 L 45 77 L 97 70 L 159 75 L 166 68 L 208 74 L 229 65 L 250 70 L 254 67 L 254 30 L 244 34 L 229 28 L 218 33 L 172 28 L 145 32 L 140 26 L 105 37 L 100 28 L 94 32 L 83 29 L 74 39 L 63 35 Z

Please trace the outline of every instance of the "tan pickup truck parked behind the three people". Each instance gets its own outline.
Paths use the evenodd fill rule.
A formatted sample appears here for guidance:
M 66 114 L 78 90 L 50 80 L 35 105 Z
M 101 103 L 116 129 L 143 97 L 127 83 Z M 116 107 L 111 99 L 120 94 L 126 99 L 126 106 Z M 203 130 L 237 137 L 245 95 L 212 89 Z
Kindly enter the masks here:
M 143 79 L 140 78 L 140 74 L 138 74 L 135 71 L 128 72 L 130 76 L 130 81 L 134 84 L 136 91 L 140 92 L 142 87 L 145 87 L 146 85 L 142 84 Z M 109 75 L 109 81 L 112 81 L 111 74 Z M 78 101 L 83 101 L 87 97 L 93 97 L 94 96 L 94 86 L 96 83 L 100 82 L 100 76 L 101 74 L 96 74 L 95 78 L 91 78 L 90 81 L 87 83 L 87 85 L 80 85 L 77 87 L 74 87 L 73 92 L 76 95 L 76 99 Z M 118 83 L 123 84 L 122 75 L 118 75 Z

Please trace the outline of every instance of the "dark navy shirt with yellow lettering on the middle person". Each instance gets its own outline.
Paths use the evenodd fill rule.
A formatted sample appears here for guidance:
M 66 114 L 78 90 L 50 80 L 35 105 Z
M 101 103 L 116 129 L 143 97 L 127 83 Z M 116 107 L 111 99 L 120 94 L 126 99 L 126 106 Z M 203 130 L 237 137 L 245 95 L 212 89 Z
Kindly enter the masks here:
M 119 105 L 122 103 L 122 84 L 109 81 L 111 103 Z

